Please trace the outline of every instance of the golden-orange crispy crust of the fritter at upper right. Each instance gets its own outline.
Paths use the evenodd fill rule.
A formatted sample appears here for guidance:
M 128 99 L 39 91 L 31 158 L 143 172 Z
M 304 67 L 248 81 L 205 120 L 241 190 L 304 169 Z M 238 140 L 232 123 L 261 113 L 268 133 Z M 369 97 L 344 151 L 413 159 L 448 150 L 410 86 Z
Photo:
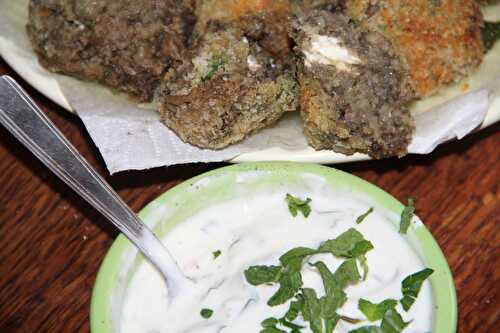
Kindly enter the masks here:
M 482 61 L 482 15 L 473 0 L 346 0 L 345 6 L 350 17 L 392 42 L 419 97 L 460 80 Z

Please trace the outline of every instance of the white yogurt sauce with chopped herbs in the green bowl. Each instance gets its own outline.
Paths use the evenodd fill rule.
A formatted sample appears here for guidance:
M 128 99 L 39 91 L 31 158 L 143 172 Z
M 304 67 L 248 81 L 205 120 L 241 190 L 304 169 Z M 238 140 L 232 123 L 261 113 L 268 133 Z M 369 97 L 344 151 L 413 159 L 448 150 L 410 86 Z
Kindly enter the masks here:
M 121 333 L 238 332 L 256 333 L 268 317 L 280 318 L 288 303 L 269 307 L 266 302 L 278 286 L 251 286 L 243 271 L 252 265 L 278 264 L 287 250 L 306 246 L 317 248 L 349 228 L 356 228 L 371 241 L 374 250 L 367 253 L 368 278 L 346 289 L 347 303 L 339 314 L 364 318 L 358 310 L 359 298 L 381 302 L 401 298 L 401 281 L 425 268 L 404 236 L 389 219 L 398 216 L 382 208 L 357 225 L 356 217 L 372 204 L 350 192 L 332 192 L 317 186 L 306 193 L 291 193 L 312 199 L 309 218 L 292 217 L 285 202 L 285 193 L 267 193 L 206 209 L 178 225 L 164 239 L 185 274 L 194 278 L 197 288 L 183 289 L 171 304 L 167 301 L 164 281 L 148 263 L 139 267 L 127 289 L 120 318 Z M 214 259 L 213 252 L 221 255 Z M 332 255 L 316 255 L 309 262 L 323 260 L 333 272 L 343 259 Z M 360 270 L 361 272 L 361 270 Z M 324 294 L 317 271 L 304 265 L 305 287 Z M 212 309 L 213 316 L 200 316 L 203 308 Z M 431 331 L 433 321 L 432 291 L 425 281 L 419 297 L 409 312 L 400 305 L 398 312 L 406 321 L 412 320 L 405 333 Z M 348 332 L 355 327 L 379 324 L 367 321 L 352 325 L 339 322 L 335 332 Z M 304 329 L 304 333 L 310 333 Z

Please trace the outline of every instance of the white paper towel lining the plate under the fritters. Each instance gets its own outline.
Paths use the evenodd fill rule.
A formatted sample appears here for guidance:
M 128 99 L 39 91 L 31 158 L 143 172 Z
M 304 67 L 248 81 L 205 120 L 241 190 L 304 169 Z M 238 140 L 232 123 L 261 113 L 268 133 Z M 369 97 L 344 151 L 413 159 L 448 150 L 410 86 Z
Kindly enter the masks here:
M 84 122 L 111 173 L 230 160 L 242 153 L 270 147 L 294 152 L 308 147 L 297 114 L 289 114 L 274 127 L 219 151 L 199 149 L 182 142 L 160 123 L 155 111 L 140 108 L 126 96 L 97 84 L 54 75 L 40 67 L 25 33 L 27 3 L 27 0 L 0 0 L 0 52 L 15 54 L 19 61 L 26 63 L 27 72 L 57 78 L 64 97 Z M 500 54 L 500 45 L 497 44 L 496 49 Z M 457 87 L 449 89 L 442 98 L 433 98 L 430 103 L 417 103 L 417 130 L 409 146 L 411 153 L 427 154 L 444 141 L 462 138 L 482 123 L 492 101 L 488 96 L 500 95 L 500 84 L 491 84 L 493 79 L 500 78 L 500 67 L 495 67 L 495 61 L 485 63 L 487 68 L 482 70 L 489 75 L 487 87 L 488 82 L 473 78 L 472 83 L 468 83 L 472 92 L 464 95 Z

